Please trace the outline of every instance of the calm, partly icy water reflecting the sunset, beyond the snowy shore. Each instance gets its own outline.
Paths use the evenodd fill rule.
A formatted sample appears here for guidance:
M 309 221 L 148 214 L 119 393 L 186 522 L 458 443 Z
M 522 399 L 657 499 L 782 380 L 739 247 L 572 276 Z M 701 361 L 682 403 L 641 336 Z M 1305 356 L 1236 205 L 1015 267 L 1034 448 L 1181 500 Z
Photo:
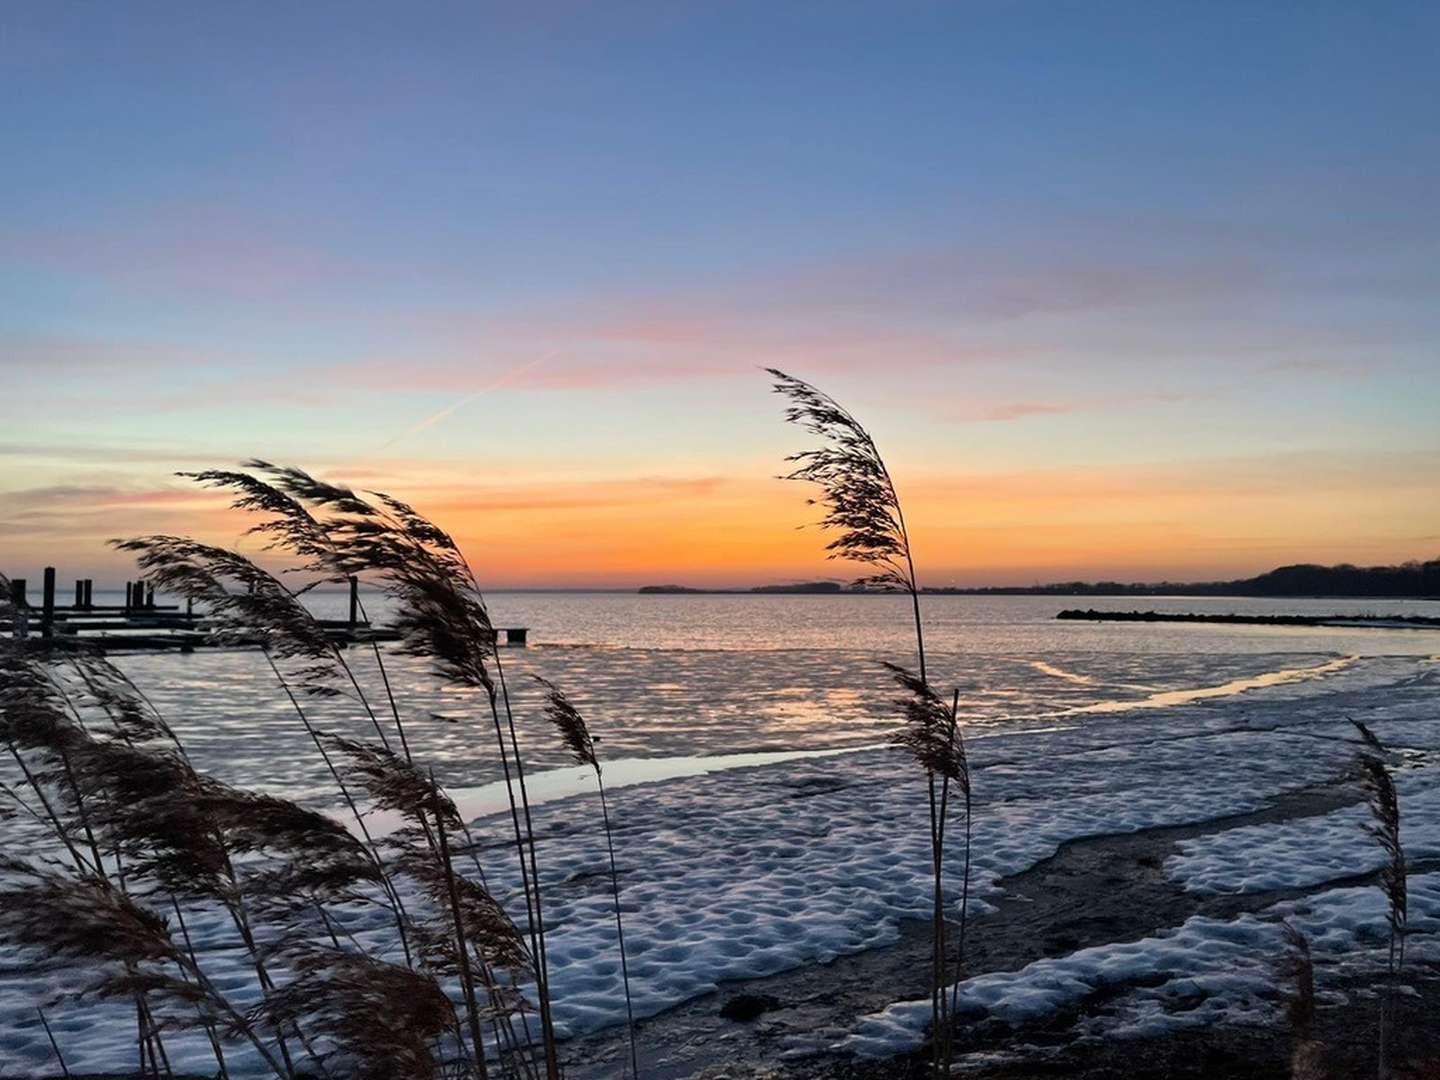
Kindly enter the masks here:
M 314 599 L 341 615 L 341 595 Z M 1433 602 L 1086 598 L 1083 606 L 1212 612 L 1436 613 Z M 383 621 L 384 603 L 369 598 Z M 1403 677 L 1440 657 L 1440 632 L 1057 622 L 1063 596 L 923 600 L 933 680 L 958 687 L 972 730 L 1081 723 L 1096 711 L 1166 707 L 1292 680 L 1323 685 L 1367 671 Z M 894 724 L 880 660 L 913 664 L 907 600 L 894 596 L 638 596 L 495 593 L 497 625 L 531 628 L 504 649 L 527 759 L 562 768 L 530 674 L 563 687 L 609 759 L 662 759 L 864 746 Z M 353 649 L 383 700 L 373 657 Z M 1338 658 L 1356 661 L 1335 664 Z M 1394 660 L 1385 660 L 1394 658 Z M 323 763 L 259 654 L 202 651 L 121 660 L 171 716 L 202 762 L 229 779 L 297 796 L 327 792 Z M 484 700 L 438 687 L 422 664 L 386 649 L 412 732 L 444 779 L 495 779 Z M 1385 675 L 1388 678 L 1390 675 Z M 1377 675 L 1380 681 L 1384 680 Z M 1377 684 L 1378 685 L 1378 684 Z M 324 727 L 366 733 L 346 701 L 311 701 Z

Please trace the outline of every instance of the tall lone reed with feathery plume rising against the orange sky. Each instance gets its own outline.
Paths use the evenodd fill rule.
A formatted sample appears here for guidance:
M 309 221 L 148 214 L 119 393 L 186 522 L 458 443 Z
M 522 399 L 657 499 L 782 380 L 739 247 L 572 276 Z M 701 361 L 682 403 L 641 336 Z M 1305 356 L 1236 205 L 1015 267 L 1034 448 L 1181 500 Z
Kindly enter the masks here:
M 932 863 L 932 1071 L 948 1073 L 952 1060 L 949 1001 L 945 994 L 948 955 L 945 942 L 945 824 L 952 785 L 960 785 L 969 821 L 969 765 L 959 740 L 959 696 L 953 707 L 930 687 L 924 655 L 924 624 L 920 619 L 920 586 L 904 510 L 874 438 L 834 397 L 811 383 L 778 369 L 766 369 L 772 389 L 788 400 L 785 419 L 805 429 L 819 445 L 789 455 L 792 469 L 782 480 L 819 488 L 812 505 L 824 507 L 818 526 L 834 534 L 827 544 L 829 559 L 868 566 L 871 573 L 855 588 L 899 592 L 910 598 L 914 622 L 916 670 L 887 664 L 904 690 L 899 701 L 904 724 L 894 743 L 910 752 L 927 779 Z M 969 896 L 969 825 L 966 824 L 966 886 Z

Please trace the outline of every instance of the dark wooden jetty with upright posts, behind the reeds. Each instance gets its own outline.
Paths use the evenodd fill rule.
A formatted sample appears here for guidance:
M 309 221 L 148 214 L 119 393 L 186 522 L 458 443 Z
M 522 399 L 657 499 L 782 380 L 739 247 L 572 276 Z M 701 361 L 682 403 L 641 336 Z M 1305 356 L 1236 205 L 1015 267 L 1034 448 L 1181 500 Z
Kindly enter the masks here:
M 194 652 L 197 648 L 261 647 L 259 638 L 216 635 L 204 612 L 197 612 L 189 600 L 184 608 L 177 603 L 157 603 L 154 586 L 143 579 L 125 582 L 125 602 L 109 605 L 94 602 L 95 582 L 89 577 L 75 580 L 75 599 L 71 603 L 56 602 L 55 586 L 55 567 L 48 566 L 36 605 L 32 603 L 26 579 L 12 577 L 9 599 L 14 609 L 14 624 L 0 626 L 0 632 L 9 631 L 19 638 L 37 636 L 56 648 L 82 647 L 107 652 L 157 649 Z M 361 612 L 360 582 L 351 577 L 348 616 L 317 619 L 317 622 L 341 647 L 400 639 L 397 631 L 372 624 Z M 524 648 L 528 636 L 527 626 L 497 626 L 494 644 Z

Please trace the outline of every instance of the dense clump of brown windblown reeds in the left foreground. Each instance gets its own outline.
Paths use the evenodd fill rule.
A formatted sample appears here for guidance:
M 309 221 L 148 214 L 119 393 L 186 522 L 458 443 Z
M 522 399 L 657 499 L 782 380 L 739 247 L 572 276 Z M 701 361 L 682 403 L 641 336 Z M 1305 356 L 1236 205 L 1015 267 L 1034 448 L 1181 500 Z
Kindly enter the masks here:
M 266 462 L 251 469 L 194 478 L 262 514 L 252 531 L 298 559 L 312 583 L 366 575 L 384 588 L 402 651 L 481 696 L 511 796 L 524 930 L 490 894 L 468 841 L 475 877 L 459 867 L 465 822 L 415 757 L 379 648 L 384 721 L 386 708 L 372 706 L 346 651 L 302 603 L 305 588 L 235 552 L 148 536 L 117 546 L 157 588 L 190 599 L 216 641 L 262 648 L 356 831 L 196 770 L 168 720 L 104 657 L 0 638 L 0 737 L 24 782 L 4 788 L 6 812 L 43 825 L 65 857 L 63 865 L 0 863 L 0 936 L 86 969 L 92 996 L 134 999 L 144 1074 L 168 1073 L 161 1031 L 193 1030 L 210 1043 L 220 1076 L 229 1073 L 225 1044 L 243 1040 L 281 1077 L 557 1080 L 524 762 L 474 575 L 454 540 L 399 500 Z M 0 618 L 13 615 L 6 602 Z M 318 729 L 308 698 L 360 711 L 373 742 Z M 590 763 L 599 772 L 593 753 Z M 374 809 L 406 824 L 376 840 L 366 825 Z M 618 901 L 608 805 L 602 815 Z M 387 912 L 393 950 L 350 935 L 334 912 L 354 906 Z M 252 968 L 238 996 L 220 989 L 233 972 L 216 979 L 194 949 L 187 907 L 217 907 L 233 924 Z M 622 969 L 634 1037 L 624 958 Z M 458 1002 L 445 985 L 459 986 Z M 632 1066 L 636 1058 L 632 1038 Z

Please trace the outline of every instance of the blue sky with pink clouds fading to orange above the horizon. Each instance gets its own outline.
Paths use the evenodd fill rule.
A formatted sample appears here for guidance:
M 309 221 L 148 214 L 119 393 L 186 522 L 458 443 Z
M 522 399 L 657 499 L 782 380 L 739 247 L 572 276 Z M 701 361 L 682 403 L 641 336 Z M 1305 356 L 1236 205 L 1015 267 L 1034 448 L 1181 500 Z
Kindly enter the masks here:
M 392 491 L 497 588 L 1440 556 L 1440 6 L 0 7 L 0 572 Z

